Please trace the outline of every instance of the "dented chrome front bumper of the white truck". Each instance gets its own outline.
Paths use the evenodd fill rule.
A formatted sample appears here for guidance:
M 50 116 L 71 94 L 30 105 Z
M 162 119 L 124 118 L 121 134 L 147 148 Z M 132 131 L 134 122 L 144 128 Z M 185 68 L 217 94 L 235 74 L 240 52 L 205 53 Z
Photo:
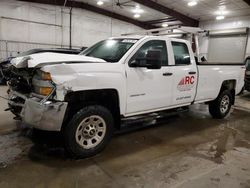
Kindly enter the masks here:
M 25 98 L 20 117 L 28 127 L 60 131 L 67 105 L 67 102 L 43 101 L 37 97 Z

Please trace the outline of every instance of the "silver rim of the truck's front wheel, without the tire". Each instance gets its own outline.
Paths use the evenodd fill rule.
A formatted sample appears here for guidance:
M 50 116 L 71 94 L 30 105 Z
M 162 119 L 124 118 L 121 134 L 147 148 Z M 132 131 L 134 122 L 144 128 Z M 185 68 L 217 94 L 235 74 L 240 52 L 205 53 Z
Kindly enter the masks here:
M 76 130 L 76 142 L 84 149 L 100 144 L 106 134 L 106 123 L 100 116 L 93 115 L 81 121 Z

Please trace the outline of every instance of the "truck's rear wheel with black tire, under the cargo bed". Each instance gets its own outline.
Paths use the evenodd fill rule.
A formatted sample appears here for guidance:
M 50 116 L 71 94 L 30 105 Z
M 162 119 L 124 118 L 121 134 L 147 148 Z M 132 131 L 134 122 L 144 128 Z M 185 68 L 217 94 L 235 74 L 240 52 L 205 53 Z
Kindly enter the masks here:
M 225 99 L 228 99 L 228 104 L 223 105 Z M 233 97 L 230 91 L 225 90 L 221 92 L 217 99 L 215 99 L 209 104 L 209 112 L 211 116 L 215 119 L 223 119 L 224 117 L 226 117 L 231 110 L 232 99 Z

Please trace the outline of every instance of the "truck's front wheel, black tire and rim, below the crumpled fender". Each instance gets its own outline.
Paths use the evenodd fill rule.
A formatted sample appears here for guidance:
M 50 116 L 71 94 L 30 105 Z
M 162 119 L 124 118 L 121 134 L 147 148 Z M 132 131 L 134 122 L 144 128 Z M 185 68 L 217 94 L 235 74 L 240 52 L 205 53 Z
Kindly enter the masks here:
M 96 121 L 94 120 L 95 117 L 96 119 L 98 119 L 99 122 L 102 122 L 98 125 L 99 128 L 102 129 L 102 126 L 103 127 L 106 126 L 105 128 L 106 131 L 105 133 L 102 133 L 103 135 L 101 136 L 98 135 L 100 134 L 100 132 L 98 132 L 98 129 L 93 128 L 93 126 L 97 127 L 93 125 L 95 124 L 93 122 Z M 84 125 L 82 125 L 83 121 L 85 121 Z M 90 121 L 92 123 L 89 123 Z M 87 127 L 89 129 L 87 129 Z M 96 131 L 93 131 L 93 130 L 96 130 Z M 105 148 L 105 146 L 107 145 L 107 143 L 109 142 L 110 138 L 113 135 L 113 132 L 114 132 L 113 130 L 114 130 L 114 120 L 113 120 L 112 114 L 110 113 L 108 109 L 102 106 L 98 106 L 98 105 L 87 106 L 81 109 L 79 112 L 77 112 L 73 116 L 71 121 L 64 128 L 63 135 L 64 135 L 65 149 L 68 152 L 68 154 L 73 158 L 86 158 L 86 157 L 94 156 Z M 95 134 L 91 131 L 95 132 Z M 81 135 L 76 136 L 76 134 L 80 132 L 81 132 Z M 91 137 L 90 133 L 91 133 L 91 136 L 95 135 L 96 138 L 102 137 L 102 139 L 98 140 L 94 137 L 90 138 Z M 95 143 L 93 143 L 94 140 L 96 140 Z M 90 144 L 96 144 L 98 142 L 99 143 L 96 146 L 87 148 L 87 145 L 89 144 L 89 142 L 91 142 Z

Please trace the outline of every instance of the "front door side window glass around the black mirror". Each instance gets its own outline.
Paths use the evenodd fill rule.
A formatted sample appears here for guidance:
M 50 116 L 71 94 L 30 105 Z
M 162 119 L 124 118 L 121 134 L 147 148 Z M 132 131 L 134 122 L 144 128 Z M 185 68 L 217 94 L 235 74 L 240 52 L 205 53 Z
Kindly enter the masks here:
M 162 52 L 162 66 L 168 65 L 168 55 L 166 42 L 163 40 L 151 40 L 142 45 L 142 47 L 130 59 L 130 62 L 139 58 L 146 58 L 148 50 L 161 50 Z

